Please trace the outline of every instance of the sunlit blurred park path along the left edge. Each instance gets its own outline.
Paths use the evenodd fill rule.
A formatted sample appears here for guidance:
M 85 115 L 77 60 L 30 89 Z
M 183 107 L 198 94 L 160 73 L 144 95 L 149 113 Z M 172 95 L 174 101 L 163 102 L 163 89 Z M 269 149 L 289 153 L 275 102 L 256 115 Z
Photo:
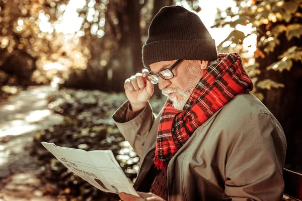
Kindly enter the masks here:
M 42 196 L 47 188 L 37 178 L 40 166 L 28 148 L 36 131 L 62 121 L 47 108 L 50 86 L 34 86 L 0 103 L 0 201 L 56 200 Z

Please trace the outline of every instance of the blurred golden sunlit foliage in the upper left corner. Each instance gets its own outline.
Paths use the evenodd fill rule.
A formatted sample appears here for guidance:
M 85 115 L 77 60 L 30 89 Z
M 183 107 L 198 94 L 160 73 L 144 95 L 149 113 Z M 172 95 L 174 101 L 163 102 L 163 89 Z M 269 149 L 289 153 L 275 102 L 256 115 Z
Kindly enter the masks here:
M 54 2 L 0 0 L 0 69 L 16 75 L 10 84 L 48 84 L 67 78 L 71 66 L 86 68 L 89 51 L 82 41 L 54 31 L 62 15 Z

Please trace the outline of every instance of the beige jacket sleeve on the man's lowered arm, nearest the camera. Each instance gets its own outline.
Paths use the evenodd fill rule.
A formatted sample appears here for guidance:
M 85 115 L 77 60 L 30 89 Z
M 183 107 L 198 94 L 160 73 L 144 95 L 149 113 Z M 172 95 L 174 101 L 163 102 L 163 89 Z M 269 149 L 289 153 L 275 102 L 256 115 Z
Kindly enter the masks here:
M 225 164 L 225 200 L 282 200 L 286 140 L 280 124 L 260 114 L 243 125 Z

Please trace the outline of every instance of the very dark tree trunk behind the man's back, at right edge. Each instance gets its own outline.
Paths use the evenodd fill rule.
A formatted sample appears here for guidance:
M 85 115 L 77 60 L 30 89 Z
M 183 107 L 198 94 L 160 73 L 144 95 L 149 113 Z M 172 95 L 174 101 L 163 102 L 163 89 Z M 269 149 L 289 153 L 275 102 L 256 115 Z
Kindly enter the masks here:
M 263 30 L 265 30 L 263 28 Z M 260 39 L 262 36 L 258 36 Z M 256 59 L 259 62 L 260 69 L 263 73 L 260 74 L 259 80 L 270 78 L 276 82 L 285 84 L 284 88 L 260 90 L 264 94 L 264 105 L 272 112 L 272 114 L 280 122 L 287 140 L 287 153 L 285 167 L 291 170 L 302 170 L 300 159 L 302 158 L 302 68 L 301 62 L 293 62 L 290 71 L 266 70 L 266 67 L 271 63 L 279 60 L 277 57 L 286 51 L 289 47 L 296 45 L 301 46 L 302 41 L 293 38 L 290 42 L 287 41 L 285 34 L 278 37 L 280 40 L 279 46 L 275 51 L 267 55 L 264 59 L 261 57 Z M 259 41 L 259 40 L 258 40 Z M 263 49 L 261 49 L 263 50 Z M 273 76 L 272 76 L 273 75 Z

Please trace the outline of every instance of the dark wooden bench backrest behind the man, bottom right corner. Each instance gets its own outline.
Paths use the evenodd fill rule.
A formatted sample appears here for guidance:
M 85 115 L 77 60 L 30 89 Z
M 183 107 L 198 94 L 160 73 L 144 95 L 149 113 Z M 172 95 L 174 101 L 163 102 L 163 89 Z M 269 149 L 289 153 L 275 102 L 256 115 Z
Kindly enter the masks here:
M 302 201 L 302 174 L 284 168 L 283 178 L 285 183 L 284 194 L 295 200 Z

